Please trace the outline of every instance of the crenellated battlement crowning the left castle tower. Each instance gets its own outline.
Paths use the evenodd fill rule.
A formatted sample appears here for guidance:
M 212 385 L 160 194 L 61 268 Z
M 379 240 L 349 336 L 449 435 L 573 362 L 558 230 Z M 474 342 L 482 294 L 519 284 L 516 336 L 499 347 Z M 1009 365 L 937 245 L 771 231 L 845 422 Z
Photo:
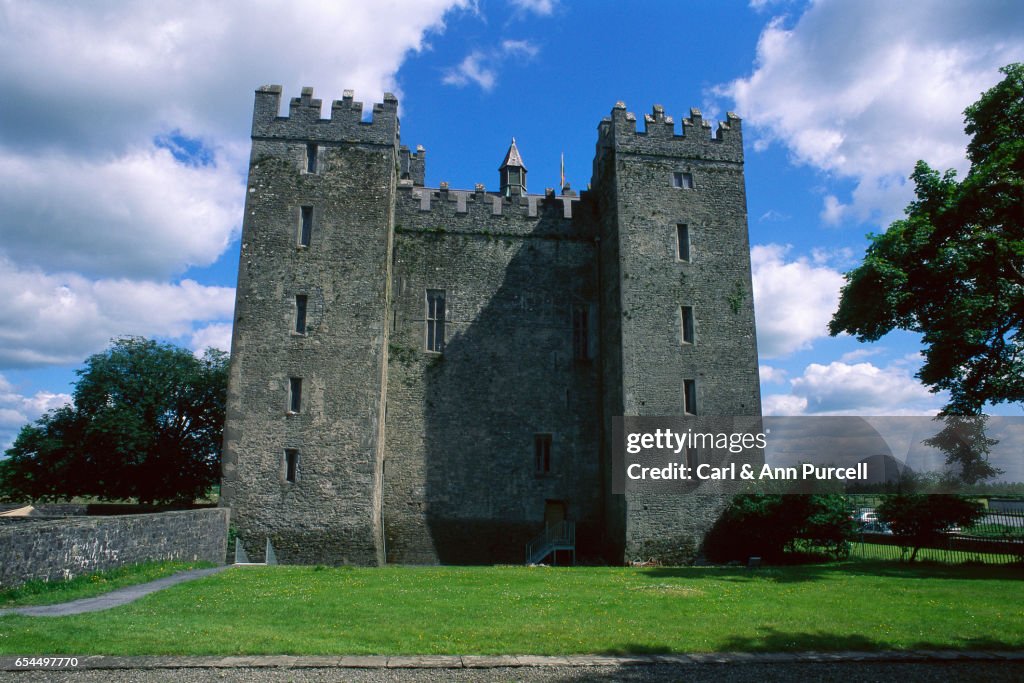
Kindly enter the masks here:
M 360 141 L 392 144 L 398 134 L 398 99 L 390 92 L 384 101 L 373 105 L 373 118 L 362 120 L 362 102 L 351 90 L 331 103 L 331 117 L 324 119 L 323 100 L 313 97 L 312 88 L 302 88 L 292 97 L 288 116 L 279 116 L 282 87 L 264 85 L 256 90 L 252 136 L 261 138 L 299 138 L 312 141 Z

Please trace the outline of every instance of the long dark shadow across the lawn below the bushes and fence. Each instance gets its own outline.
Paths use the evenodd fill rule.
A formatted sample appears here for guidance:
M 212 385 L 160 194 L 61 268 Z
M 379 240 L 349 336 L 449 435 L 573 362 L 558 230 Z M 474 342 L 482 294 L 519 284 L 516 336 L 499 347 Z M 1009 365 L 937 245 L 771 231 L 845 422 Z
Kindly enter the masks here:
M 718 581 L 771 581 L 794 584 L 819 581 L 834 575 L 887 577 L 890 579 L 1024 579 L 1020 565 L 943 564 L 938 562 L 893 562 L 887 560 L 848 560 L 827 564 L 761 566 L 651 567 L 642 572 L 651 579 L 714 579 Z

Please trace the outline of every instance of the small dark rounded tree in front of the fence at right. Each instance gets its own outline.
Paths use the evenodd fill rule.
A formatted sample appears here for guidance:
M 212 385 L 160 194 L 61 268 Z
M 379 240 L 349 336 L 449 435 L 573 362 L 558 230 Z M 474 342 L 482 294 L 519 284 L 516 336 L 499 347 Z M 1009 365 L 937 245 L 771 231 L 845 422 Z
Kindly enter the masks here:
M 919 550 L 938 544 L 947 529 L 970 526 L 984 512 L 981 503 L 943 494 L 893 496 L 878 508 L 879 518 L 889 524 L 893 535 L 913 548 L 910 562 Z

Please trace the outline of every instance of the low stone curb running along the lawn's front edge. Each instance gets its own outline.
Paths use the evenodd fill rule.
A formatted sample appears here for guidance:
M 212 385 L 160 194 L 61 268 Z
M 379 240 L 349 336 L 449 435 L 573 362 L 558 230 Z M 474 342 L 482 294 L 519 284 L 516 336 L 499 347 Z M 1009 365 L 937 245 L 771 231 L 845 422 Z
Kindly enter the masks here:
M 18 659 L 76 660 L 68 664 L 15 665 Z M 153 670 L 153 669 L 503 669 L 522 667 L 625 667 L 625 666 L 707 666 L 737 664 L 801 663 L 925 663 L 925 661 L 1017 661 L 1024 664 L 1024 651 L 1002 650 L 886 650 L 876 652 L 694 652 L 691 654 L 421 654 L 421 655 L 254 655 L 254 656 L 108 656 L 49 655 L 0 657 L 0 671 L 68 670 Z

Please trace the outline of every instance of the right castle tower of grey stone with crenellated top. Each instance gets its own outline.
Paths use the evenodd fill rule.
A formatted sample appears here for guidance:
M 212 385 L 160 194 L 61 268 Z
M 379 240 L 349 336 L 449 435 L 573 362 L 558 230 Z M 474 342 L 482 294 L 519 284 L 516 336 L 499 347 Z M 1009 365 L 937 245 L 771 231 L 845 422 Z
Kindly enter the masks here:
M 622 104 L 599 127 L 602 280 L 615 283 L 605 346 L 618 354 L 605 365 L 606 419 L 760 415 L 739 120 L 712 137 L 694 110 L 674 129 L 655 106 L 638 131 Z M 625 557 L 692 557 L 727 494 L 707 482 L 611 501 Z

